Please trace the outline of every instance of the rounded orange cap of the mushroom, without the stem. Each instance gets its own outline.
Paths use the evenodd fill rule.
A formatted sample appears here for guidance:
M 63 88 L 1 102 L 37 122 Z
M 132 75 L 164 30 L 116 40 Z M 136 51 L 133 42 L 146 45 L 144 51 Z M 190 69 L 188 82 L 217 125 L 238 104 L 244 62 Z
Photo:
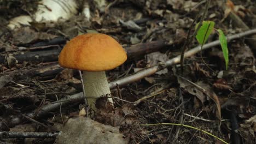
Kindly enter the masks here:
M 89 33 L 71 39 L 62 49 L 59 64 L 86 71 L 110 70 L 127 59 L 123 47 L 106 34 Z

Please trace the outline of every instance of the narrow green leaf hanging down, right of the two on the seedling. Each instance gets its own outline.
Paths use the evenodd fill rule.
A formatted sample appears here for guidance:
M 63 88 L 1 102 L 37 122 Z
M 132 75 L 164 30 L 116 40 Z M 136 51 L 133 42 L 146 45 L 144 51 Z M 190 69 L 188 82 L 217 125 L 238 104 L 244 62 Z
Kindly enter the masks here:
M 228 64 L 229 64 L 228 43 L 226 41 L 226 36 L 223 33 L 223 31 L 221 29 L 218 29 L 218 32 L 219 32 L 220 46 L 222 46 L 222 52 L 223 52 L 223 56 L 224 56 L 225 63 L 226 63 L 226 69 L 228 69 Z

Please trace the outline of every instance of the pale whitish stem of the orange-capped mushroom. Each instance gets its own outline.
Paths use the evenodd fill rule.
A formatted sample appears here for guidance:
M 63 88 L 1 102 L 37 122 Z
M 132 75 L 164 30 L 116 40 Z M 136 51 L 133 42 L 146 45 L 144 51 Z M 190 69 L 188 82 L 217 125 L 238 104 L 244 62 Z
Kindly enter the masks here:
M 96 110 L 95 102 L 100 97 L 110 96 L 110 89 L 105 71 L 83 71 L 84 89 L 88 105 Z M 113 104 L 112 98 L 108 101 Z

